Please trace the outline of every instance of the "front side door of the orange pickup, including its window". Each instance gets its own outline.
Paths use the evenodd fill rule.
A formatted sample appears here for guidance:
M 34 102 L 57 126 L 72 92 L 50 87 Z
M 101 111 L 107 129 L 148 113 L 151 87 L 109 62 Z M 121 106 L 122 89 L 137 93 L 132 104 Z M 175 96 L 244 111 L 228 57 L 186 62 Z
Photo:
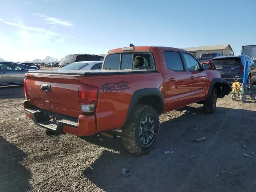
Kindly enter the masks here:
M 191 103 L 202 100 L 206 96 L 206 72 L 191 54 L 182 52 L 190 79 Z

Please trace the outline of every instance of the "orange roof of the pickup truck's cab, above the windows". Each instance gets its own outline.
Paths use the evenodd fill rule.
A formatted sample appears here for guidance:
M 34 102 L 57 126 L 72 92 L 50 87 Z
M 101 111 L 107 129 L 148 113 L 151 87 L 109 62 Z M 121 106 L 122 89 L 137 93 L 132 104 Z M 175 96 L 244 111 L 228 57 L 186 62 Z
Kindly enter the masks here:
M 123 48 L 126 48 L 126 47 L 112 49 L 112 50 L 108 51 L 108 54 L 116 53 L 116 52 L 122 52 Z M 134 48 L 134 50 L 130 50 L 130 51 L 150 51 L 152 48 L 156 48 L 156 49 L 159 49 L 159 50 L 160 49 L 168 49 L 168 50 L 188 52 L 184 49 L 178 49 L 178 48 L 174 48 L 174 47 L 163 47 L 163 46 L 134 46 L 133 48 Z

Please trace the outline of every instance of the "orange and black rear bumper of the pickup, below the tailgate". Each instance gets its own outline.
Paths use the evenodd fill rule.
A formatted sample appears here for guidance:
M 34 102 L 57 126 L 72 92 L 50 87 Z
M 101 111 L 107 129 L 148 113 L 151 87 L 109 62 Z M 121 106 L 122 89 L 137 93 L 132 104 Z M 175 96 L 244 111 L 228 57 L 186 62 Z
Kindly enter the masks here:
M 28 100 L 23 102 L 23 107 L 26 116 L 32 119 L 35 124 L 56 134 L 69 133 L 78 136 L 88 136 L 96 133 L 94 115 L 80 115 L 79 118 L 63 116 L 30 106 Z

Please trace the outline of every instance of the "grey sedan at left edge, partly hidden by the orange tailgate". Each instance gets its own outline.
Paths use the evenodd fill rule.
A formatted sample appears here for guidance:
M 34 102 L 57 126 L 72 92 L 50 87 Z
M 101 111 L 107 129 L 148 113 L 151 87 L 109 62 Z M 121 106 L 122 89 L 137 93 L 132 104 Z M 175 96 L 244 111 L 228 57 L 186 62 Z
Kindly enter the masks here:
M 13 62 L 0 62 L 0 86 L 23 84 L 28 70 L 37 70 L 37 68 Z

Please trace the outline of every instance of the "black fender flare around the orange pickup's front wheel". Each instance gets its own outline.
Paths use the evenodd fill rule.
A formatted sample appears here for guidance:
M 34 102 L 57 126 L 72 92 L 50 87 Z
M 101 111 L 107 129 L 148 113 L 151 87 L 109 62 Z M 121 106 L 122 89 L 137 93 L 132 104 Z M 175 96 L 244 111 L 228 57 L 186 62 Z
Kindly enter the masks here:
M 210 88 L 209 88 L 209 91 L 207 94 L 207 98 L 210 98 L 210 96 L 212 94 L 212 88 L 216 84 L 220 85 L 220 92 L 217 95 L 218 98 L 223 98 L 225 95 L 228 95 L 232 91 L 230 84 L 226 80 L 224 80 L 222 78 L 214 78 L 214 79 L 212 79 L 212 82 L 211 82 L 211 85 L 210 85 Z

